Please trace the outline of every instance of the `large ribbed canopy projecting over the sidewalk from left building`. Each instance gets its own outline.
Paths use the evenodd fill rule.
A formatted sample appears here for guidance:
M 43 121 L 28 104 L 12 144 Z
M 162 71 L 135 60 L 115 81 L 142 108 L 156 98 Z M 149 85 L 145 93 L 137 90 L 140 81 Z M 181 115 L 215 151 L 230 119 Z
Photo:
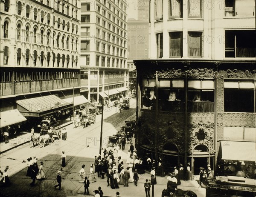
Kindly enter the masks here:
M 17 109 L 23 116 L 41 117 L 53 111 L 61 111 L 73 106 L 55 95 L 17 100 Z

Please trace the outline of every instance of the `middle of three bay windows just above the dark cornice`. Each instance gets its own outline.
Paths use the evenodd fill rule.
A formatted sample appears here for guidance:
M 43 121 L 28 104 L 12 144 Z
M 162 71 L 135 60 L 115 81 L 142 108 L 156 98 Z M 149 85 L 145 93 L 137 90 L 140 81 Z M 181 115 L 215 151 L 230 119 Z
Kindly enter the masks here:
M 182 32 L 169 32 L 170 55 L 169 57 L 182 57 Z

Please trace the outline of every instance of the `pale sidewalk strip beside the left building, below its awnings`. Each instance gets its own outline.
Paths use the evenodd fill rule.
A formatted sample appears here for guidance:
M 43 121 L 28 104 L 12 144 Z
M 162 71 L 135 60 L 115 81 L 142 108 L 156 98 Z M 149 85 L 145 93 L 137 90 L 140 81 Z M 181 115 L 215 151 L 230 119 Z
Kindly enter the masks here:
M 67 125 L 70 125 L 72 123 L 73 121 L 64 123 L 61 125 L 61 128 Z M 23 144 L 30 142 L 30 136 L 31 136 L 30 132 L 21 131 L 20 133 L 23 133 L 23 134 L 19 135 L 18 137 L 9 139 L 9 143 L 4 143 L 4 142 L 0 143 L 0 154 L 3 154 L 6 151 L 12 150 L 13 148 L 17 148 L 18 146 L 21 146 Z

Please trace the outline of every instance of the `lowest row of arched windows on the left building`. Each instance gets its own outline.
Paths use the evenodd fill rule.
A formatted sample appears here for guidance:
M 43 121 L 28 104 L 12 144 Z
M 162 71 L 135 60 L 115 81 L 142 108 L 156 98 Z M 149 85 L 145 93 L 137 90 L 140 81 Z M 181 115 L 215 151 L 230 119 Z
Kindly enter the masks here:
M 8 65 L 9 62 L 9 47 L 5 46 L 3 48 L 3 64 L 4 65 Z M 32 57 L 32 62 L 30 62 Z M 22 63 L 22 59 L 24 58 L 25 60 L 25 65 L 29 66 L 29 65 L 33 65 L 33 66 L 37 66 L 38 65 L 38 58 L 40 59 L 40 66 L 44 66 L 44 59 L 46 59 L 46 64 L 47 66 L 50 66 L 50 61 L 51 61 L 51 54 L 50 52 L 48 52 L 46 55 L 44 54 L 44 51 L 41 51 L 40 54 L 38 54 L 38 52 L 35 50 L 33 51 L 32 54 L 30 54 L 30 50 L 26 49 L 26 53 L 22 56 L 22 52 L 21 49 L 18 48 L 17 49 L 17 65 L 20 66 Z M 70 63 L 70 56 L 67 55 L 67 57 L 65 57 L 64 54 L 62 54 L 62 56 L 60 54 L 57 54 L 57 56 L 55 55 L 55 53 L 52 54 L 52 62 L 53 62 L 53 67 L 57 66 L 57 67 L 69 67 L 69 63 Z M 56 62 L 56 65 L 55 65 Z M 74 59 L 74 55 L 71 56 L 71 67 L 73 68 L 75 63 L 75 66 L 77 67 L 77 63 L 78 63 L 78 56 L 76 56 L 76 59 Z

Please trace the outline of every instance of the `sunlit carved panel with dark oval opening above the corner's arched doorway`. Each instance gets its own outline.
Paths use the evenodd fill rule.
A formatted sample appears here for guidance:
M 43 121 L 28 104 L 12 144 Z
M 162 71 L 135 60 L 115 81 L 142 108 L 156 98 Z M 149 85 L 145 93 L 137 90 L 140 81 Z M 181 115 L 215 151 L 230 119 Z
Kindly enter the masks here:
M 198 144 L 204 144 L 209 147 L 209 153 L 215 153 L 214 149 L 214 123 L 207 122 L 204 123 L 200 121 L 199 123 L 189 124 L 188 131 L 188 153 L 192 154 L 193 148 Z M 203 130 L 203 131 L 202 131 Z M 204 137 L 200 136 L 200 133 Z

